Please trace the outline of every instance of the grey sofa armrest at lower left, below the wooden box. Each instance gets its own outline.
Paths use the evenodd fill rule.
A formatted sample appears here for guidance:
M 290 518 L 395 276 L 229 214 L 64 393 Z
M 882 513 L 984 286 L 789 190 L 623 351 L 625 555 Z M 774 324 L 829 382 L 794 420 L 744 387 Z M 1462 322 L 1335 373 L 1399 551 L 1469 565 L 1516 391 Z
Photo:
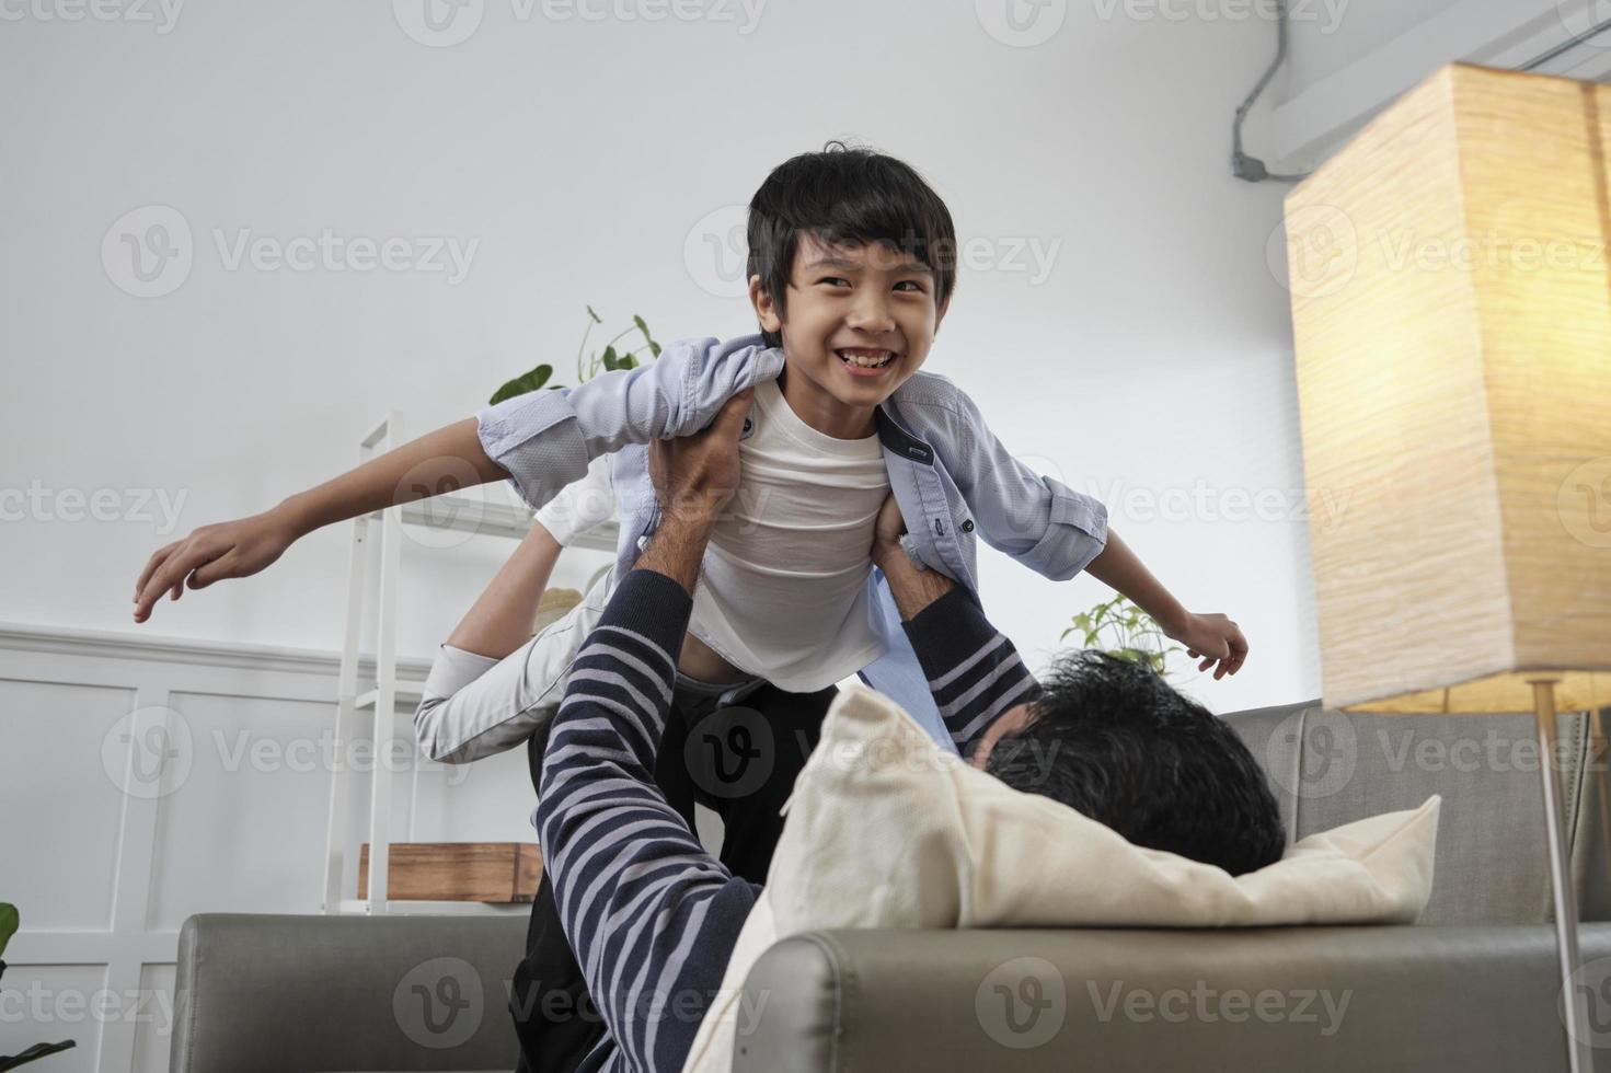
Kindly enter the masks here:
M 525 917 L 201 914 L 179 931 L 171 1073 L 512 1070 Z

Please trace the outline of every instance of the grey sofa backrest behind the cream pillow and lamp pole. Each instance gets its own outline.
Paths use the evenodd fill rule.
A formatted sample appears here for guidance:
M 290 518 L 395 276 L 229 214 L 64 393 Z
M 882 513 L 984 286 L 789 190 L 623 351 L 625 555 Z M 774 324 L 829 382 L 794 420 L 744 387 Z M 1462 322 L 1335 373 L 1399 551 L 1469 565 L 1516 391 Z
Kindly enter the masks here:
M 1543 923 L 1550 872 L 1530 714 L 1369 715 L 1319 701 L 1226 715 L 1265 765 L 1287 836 L 1308 838 L 1442 794 L 1432 901 L 1418 923 Z M 1611 918 L 1605 740 L 1561 719 L 1572 873 L 1584 920 Z

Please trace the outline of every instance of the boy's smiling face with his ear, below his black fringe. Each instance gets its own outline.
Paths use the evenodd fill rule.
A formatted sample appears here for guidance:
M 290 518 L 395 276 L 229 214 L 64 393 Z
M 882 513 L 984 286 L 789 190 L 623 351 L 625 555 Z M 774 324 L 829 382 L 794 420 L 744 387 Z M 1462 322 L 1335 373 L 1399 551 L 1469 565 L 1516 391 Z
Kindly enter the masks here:
M 749 279 L 760 325 L 783 335 L 783 396 L 801 420 L 841 440 L 873 435 L 873 411 L 928 358 L 944 308 L 934 274 L 883 243 L 825 245 L 801 234 L 783 317 Z

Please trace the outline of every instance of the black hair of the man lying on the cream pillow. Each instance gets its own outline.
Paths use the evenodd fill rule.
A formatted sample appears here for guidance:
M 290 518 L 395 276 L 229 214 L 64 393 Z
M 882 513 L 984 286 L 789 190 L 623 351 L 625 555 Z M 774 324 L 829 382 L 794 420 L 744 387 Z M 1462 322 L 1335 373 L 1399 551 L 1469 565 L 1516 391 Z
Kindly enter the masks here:
M 1231 875 L 1281 859 L 1286 830 L 1253 754 L 1150 667 L 1095 649 L 1065 652 L 1041 677 L 1031 712 L 984 764 L 1013 789 Z

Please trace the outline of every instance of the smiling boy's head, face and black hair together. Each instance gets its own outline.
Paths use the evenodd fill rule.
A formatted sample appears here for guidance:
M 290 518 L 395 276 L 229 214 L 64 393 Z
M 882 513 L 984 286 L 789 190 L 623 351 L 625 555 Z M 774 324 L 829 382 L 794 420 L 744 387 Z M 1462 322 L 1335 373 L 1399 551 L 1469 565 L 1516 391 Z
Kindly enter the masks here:
M 852 408 L 928 356 L 957 282 L 939 195 L 902 161 L 830 142 L 778 164 L 749 201 L 749 298 L 791 377 Z M 846 348 L 892 351 L 880 367 Z

